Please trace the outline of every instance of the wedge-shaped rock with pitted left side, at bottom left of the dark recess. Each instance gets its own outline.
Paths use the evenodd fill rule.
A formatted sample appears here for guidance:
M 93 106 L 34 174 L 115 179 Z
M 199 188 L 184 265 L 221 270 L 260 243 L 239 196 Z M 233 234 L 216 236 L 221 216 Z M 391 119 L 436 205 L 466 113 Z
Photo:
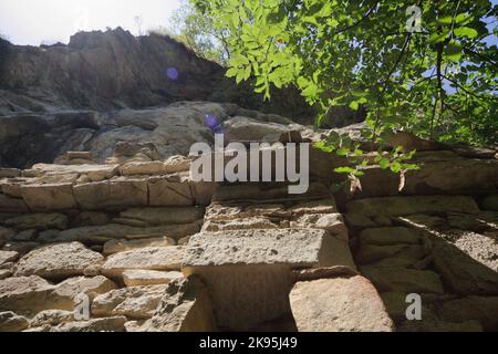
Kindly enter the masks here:
M 148 332 L 214 332 L 211 301 L 206 285 L 196 277 L 173 280 L 157 310 L 143 330 Z

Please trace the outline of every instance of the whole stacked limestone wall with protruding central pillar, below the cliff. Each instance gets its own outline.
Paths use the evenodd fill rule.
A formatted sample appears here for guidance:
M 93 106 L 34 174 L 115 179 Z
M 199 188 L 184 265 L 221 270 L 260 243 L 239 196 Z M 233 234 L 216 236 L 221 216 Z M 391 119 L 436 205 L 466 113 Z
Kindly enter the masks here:
M 0 331 L 498 330 L 496 152 L 402 143 L 421 169 L 401 192 L 376 167 L 333 190 L 341 162 L 314 149 L 299 196 L 131 160 L 146 144 L 2 168 Z

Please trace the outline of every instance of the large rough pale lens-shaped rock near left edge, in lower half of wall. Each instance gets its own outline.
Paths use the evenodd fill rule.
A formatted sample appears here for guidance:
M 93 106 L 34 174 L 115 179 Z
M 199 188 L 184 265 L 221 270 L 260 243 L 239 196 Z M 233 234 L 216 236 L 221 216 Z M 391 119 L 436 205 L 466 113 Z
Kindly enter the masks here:
M 35 249 L 21 258 L 14 268 L 14 274 L 65 279 L 83 275 L 86 267 L 102 260 L 102 254 L 89 250 L 80 242 L 51 244 Z

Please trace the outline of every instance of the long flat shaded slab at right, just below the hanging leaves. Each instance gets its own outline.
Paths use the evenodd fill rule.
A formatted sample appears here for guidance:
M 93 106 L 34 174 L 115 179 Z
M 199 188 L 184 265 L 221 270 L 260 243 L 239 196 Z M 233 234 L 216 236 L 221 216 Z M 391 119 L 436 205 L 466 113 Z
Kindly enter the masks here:
M 415 196 L 370 198 L 350 201 L 347 212 L 365 216 L 405 216 L 430 212 L 477 214 L 479 207 L 470 197 L 465 196 Z

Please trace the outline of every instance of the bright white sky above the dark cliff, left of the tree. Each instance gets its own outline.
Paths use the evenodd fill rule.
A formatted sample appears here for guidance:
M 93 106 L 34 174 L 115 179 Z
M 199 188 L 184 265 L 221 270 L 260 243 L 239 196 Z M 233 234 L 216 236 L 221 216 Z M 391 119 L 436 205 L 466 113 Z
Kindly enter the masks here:
M 0 0 L 0 33 L 21 45 L 68 43 L 79 30 L 118 25 L 146 34 L 167 27 L 178 7 L 178 0 Z

